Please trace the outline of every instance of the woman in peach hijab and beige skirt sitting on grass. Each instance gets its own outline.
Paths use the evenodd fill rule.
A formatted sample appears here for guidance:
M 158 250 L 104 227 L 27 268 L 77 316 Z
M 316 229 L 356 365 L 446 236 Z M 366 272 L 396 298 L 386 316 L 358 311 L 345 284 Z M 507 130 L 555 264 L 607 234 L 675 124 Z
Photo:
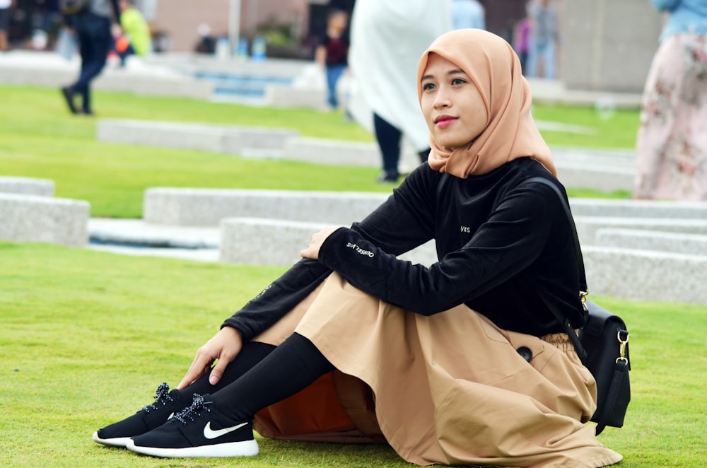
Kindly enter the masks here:
M 423 54 L 418 83 L 428 163 L 360 223 L 312 236 L 177 390 L 160 385 L 94 440 L 157 457 L 256 455 L 255 424 L 277 438 L 386 441 L 416 464 L 621 460 L 585 424 L 595 381 L 542 300 L 583 325 L 568 218 L 530 180 L 561 187 L 518 57 L 496 35 L 455 30 Z M 397 259 L 430 239 L 431 267 Z

